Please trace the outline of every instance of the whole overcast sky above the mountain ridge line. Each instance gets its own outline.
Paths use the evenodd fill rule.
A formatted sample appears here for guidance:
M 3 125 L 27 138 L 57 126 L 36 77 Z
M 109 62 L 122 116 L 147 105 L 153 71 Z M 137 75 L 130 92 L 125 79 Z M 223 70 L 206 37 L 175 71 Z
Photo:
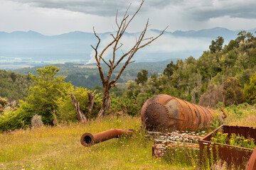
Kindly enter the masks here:
M 0 0 L 0 31 L 34 30 L 45 35 L 71 31 L 98 33 L 115 30 L 120 16 L 141 0 Z M 256 28 L 255 0 L 146 0 L 128 32 L 142 30 L 147 18 L 151 29 L 201 30 L 224 27 L 230 30 Z

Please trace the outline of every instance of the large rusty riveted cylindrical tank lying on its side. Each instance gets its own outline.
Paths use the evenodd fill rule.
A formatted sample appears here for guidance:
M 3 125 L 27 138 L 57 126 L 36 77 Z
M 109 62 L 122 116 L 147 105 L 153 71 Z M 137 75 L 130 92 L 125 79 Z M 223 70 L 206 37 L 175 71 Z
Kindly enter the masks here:
M 216 116 L 223 121 L 223 117 L 211 109 L 166 94 L 149 98 L 141 111 L 147 130 L 205 130 Z

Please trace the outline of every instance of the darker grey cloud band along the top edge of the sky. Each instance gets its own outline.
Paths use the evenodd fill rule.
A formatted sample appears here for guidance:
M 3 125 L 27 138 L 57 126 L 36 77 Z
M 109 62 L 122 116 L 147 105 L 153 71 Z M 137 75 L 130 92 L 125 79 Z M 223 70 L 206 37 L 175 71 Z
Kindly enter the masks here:
M 141 1 L 127 0 L 9 0 L 42 8 L 60 8 L 97 16 L 114 16 L 117 9 L 124 12 L 132 4 L 137 9 Z M 256 18 L 255 0 L 146 0 L 142 12 L 152 8 L 179 8 L 195 20 L 208 20 L 220 16 Z

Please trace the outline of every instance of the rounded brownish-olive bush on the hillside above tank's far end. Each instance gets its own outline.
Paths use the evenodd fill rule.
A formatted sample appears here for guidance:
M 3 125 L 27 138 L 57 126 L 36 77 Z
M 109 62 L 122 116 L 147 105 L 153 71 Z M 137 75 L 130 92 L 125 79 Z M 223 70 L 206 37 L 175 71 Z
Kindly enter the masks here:
M 245 102 L 245 96 L 242 93 L 240 81 L 235 77 L 228 77 L 223 84 L 223 97 L 225 106 L 232 104 L 238 105 Z

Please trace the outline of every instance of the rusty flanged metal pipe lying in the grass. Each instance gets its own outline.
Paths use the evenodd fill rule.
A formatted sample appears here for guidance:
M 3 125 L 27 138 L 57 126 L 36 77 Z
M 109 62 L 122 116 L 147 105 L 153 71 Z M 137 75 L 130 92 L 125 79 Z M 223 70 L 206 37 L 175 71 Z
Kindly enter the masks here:
M 104 132 L 97 133 L 92 135 L 89 132 L 86 132 L 82 135 L 80 142 L 85 147 L 91 147 L 99 142 L 104 142 L 115 137 L 120 137 L 121 135 L 131 135 L 131 130 L 121 130 L 121 129 L 111 129 Z

